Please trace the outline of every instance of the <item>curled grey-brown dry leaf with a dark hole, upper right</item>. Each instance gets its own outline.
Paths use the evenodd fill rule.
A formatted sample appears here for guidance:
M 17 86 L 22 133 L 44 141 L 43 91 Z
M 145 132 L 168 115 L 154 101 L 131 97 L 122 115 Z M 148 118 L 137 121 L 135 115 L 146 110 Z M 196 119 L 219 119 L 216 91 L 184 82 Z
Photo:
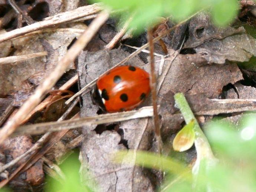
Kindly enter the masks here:
M 217 28 L 204 13 L 191 20 L 184 48 L 194 49 L 208 63 L 245 62 L 256 56 L 256 40 L 243 27 Z

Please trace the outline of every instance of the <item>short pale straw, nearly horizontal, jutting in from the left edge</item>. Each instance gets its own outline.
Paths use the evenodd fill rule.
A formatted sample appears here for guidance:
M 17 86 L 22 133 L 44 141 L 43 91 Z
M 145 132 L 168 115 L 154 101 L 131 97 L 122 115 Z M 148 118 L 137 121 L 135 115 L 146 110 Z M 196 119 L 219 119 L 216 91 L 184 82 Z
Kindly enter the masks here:
M 2 57 L 2 58 L 0 58 L 0 64 L 14 63 L 14 62 L 32 59 L 35 57 L 42 57 L 42 56 L 46 56 L 46 55 L 47 55 L 47 52 L 45 51 L 45 52 L 30 53 L 30 54 L 10 56 L 10 57 Z

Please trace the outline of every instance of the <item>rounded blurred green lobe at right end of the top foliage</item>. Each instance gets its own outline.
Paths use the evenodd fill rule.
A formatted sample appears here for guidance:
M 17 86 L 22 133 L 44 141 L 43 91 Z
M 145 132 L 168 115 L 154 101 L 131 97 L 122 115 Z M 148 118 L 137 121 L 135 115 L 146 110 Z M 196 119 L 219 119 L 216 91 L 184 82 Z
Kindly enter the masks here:
M 211 14 L 213 21 L 218 26 L 226 26 L 231 23 L 238 12 L 237 0 L 216 0 L 213 3 Z

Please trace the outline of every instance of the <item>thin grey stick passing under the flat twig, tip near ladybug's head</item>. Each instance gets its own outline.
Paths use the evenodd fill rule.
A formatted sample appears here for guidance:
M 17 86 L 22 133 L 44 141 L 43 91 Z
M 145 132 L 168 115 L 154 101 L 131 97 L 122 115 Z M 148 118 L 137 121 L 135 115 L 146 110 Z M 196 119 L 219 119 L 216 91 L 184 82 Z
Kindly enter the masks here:
M 75 102 L 72 103 L 72 105 L 70 105 L 70 107 L 68 108 L 68 110 L 66 110 L 66 112 L 58 119 L 58 121 L 62 121 L 64 119 L 66 119 L 66 117 L 69 115 L 69 113 L 72 111 L 72 109 L 76 106 L 76 104 L 78 103 L 78 99 L 75 100 Z M 52 132 L 47 132 L 45 133 L 45 135 L 43 135 L 33 146 L 32 148 L 30 148 L 29 150 L 27 150 L 25 153 L 23 153 L 22 155 L 18 156 L 17 158 L 13 159 L 12 161 L 10 161 L 9 163 L 6 163 L 4 166 L 0 167 L 0 173 L 3 172 L 5 169 L 15 165 L 18 161 L 20 161 L 21 159 L 23 159 L 25 156 L 29 155 L 32 152 L 35 152 L 37 149 L 39 149 L 43 143 L 47 140 L 47 138 L 49 137 L 49 135 Z M 33 155 L 33 153 L 31 154 Z

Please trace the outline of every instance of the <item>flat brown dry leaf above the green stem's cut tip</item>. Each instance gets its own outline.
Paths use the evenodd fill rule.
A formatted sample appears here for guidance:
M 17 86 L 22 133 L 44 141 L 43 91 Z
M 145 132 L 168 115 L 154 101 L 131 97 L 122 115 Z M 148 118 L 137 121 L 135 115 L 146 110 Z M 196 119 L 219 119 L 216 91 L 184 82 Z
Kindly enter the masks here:
M 216 98 L 222 92 L 223 86 L 242 79 L 242 73 L 236 64 L 209 65 L 198 54 L 179 54 L 165 78 L 160 97 L 171 91 L 204 93 L 207 97 Z

